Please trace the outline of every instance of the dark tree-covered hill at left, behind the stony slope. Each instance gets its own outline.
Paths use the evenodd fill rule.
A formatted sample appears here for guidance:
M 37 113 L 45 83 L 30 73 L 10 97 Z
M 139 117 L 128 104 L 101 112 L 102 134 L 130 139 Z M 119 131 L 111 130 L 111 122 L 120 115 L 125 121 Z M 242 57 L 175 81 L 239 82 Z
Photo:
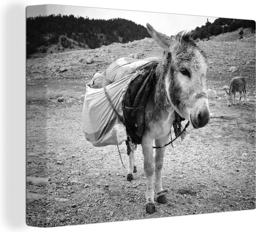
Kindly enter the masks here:
M 27 18 L 27 57 L 94 49 L 145 37 L 150 37 L 147 29 L 127 19 L 89 19 L 74 15 Z

